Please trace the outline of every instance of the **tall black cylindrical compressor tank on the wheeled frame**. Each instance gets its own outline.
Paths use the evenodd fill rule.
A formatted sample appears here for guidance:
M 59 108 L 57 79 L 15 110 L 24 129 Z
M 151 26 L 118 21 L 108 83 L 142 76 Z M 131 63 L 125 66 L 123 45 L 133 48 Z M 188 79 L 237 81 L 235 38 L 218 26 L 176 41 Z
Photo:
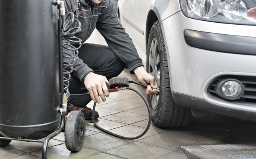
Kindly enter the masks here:
M 0 0 L 0 134 L 41 139 L 60 124 L 58 10 Z

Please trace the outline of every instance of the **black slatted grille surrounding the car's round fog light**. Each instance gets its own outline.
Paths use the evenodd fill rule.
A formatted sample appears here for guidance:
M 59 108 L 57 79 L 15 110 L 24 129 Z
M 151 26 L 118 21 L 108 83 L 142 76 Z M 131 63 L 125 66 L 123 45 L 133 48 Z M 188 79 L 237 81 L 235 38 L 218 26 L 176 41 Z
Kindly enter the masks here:
M 214 90 L 216 83 L 222 79 L 237 79 L 244 85 L 244 95 L 237 100 L 227 100 L 223 99 Z M 219 100 L 226 100 L 228 102 L 236 104 L 249 104 L 256 106 L 256 77 L 254 76 L 238 76 L 238 75 L 224 75 L 216 78 L 207 89 L 207 93 L 210 97 L 216 98 Z

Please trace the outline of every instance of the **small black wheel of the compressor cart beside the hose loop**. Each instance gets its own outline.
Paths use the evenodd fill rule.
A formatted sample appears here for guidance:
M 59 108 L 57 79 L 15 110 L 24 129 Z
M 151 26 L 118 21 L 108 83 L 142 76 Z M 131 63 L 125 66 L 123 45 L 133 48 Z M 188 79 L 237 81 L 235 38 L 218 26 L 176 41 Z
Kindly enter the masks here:
M 68 113 L 65 122 L 65 143 L 68 150 L 78 152 L 82 149 L 85 131 L 84 114 L 80 111 Z

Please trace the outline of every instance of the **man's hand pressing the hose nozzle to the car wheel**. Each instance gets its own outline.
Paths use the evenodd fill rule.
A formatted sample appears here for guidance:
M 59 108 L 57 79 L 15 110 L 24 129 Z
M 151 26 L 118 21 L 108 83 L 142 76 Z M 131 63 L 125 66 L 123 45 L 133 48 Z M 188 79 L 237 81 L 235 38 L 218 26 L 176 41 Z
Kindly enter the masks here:
M 143 66 L 137 67 L 136 69 L 133 70 L 133 72 L 137 76 L 138 81 L 140 83 L 148 85 L 148 88 L 142 87 L 146 91 L 147 95 L 152 96 L 153 94 L 158 93 L 156 92 L 156 90 L 152 90 L 152 88 L 158 88 L 158 84 L 155 78 L 149 73 L 147 73 L 146 69 Z

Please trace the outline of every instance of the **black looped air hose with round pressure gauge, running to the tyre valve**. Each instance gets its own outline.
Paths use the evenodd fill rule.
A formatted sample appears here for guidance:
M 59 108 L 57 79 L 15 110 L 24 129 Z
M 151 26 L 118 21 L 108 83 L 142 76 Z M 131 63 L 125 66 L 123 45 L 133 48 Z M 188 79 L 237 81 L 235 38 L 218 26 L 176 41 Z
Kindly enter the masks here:
M 108 133 L 110 135 L 113 135 L 115 137 L 119 137 L 121 139 L 129 139 L 129 140 L 132 140 L 132 139 L 138 139 L 140 137 L 142 137 L 149 129 L 150 127 L 150 124 L 151 124 L 151 110 L 150 110 L 150 106 L 148 104 L 148 101 L 146 100 L 146 98 L 136 89 L 130 87 L 130 83 L 135 83 L 135 84 L 138 84 L 138 85 L 141 85 L 141 86 L 144 86 L 144 87 L 147 87 L 145 84 L 141 84 L 139 82 L 135 82 L 135 81 L 132 81 L 132 80 L 128 80 L 127 78 L 125 77 L 114 77 L 112 79 L 109 80 L 109 84 L 107 84 L 108 86 L 108 90 L 109 92 L 116 92 L 118 90 L 132 90 L 134 92 L 136 92 L 137 94 L 139 94 L 139 96 L 144 100 L 147 108 L 148 108 L 148 126 L 146 127 L 146 129 L 144 130 L 144 132 L 142 132 L 140 135 L 136 136 L 136 137 L 125 137 L 125 136 L 121 136 L 121 135 L 118 135 L 116 133 L 112 133 L 112 132 L 109 132 L 108 130 L 105 130 L 103 128 L 101 128 L 100 126 L 98 126 L 95 122 L 95 119 L 94 119 L 94 112 L 95 112 L 95 107 L 96 107 L 96 104 L 97 102 L 94 102 L 94 105 L 93 105 L 93 109 L 92 109 L 92 121 L 93 121 L 93 124 L 96 128 L 98 128 L 99 130 L 102 130 L 103 132 L 105 133 Z M 159 90 L 159 88 L 156 88 Z

